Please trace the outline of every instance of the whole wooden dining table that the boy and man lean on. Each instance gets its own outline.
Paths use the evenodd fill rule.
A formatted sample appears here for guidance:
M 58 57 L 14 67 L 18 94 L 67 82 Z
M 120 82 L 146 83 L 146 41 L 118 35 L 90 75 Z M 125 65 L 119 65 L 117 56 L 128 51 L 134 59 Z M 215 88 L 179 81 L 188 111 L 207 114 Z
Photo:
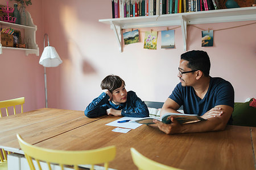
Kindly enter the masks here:
M 2 130 L 7 121 L 0 119 L 0 146 L 19 148 L 15 139 L 19 132 L 24 140 L 36 146 L 57 150 L 90 150 L 115 145 L 117 155 L 110 162 L 110 168 L 115 169 L 137 169 L 131 160 L 131 147 L 152 160 L 181 169 L 255 169 L 256 128 L 227 126 L 226 130 L 218 132 L 166 135 L 157 127 L 142 125 L 122 134 L 113 132 L 115 127 L 105 126 L 120 117 L 89 119 L 82 111 L 55 109 L 56 115 L 52 115 L 51 110 L 26 113 L 31 118 L 27 122 L 34 122 L 35 118 L 49 124 L 38 128 L 29 123 L 27 131 L 24 129 L 26 123 L 19 122 L 16 117 L 15 121 L 6 120 L 19 122 L 22 130 L 18 125 Z M 9 132 L 9 137 L 2 137 Z

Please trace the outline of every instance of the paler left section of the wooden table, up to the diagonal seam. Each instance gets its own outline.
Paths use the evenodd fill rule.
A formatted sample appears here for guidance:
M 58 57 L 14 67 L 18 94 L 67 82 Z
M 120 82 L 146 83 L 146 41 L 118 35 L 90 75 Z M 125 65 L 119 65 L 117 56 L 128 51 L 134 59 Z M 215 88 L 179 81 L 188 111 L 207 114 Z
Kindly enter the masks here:
M 0 146 L 7 151 L 20 153 L 17 133 L 28 143 L 35 144 L 97 119 L 100 118 L 86 119 L 83 111 L 49 108 L 10 115 L 0 119 Z

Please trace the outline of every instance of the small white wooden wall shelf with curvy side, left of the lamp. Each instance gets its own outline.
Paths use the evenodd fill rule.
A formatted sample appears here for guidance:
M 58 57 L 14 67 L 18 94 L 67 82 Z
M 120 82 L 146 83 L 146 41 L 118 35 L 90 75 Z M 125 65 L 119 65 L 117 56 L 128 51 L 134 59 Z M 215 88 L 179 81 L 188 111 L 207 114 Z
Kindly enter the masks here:
M 36 44 L 36 30 L 38 28 L 33 23 L 33 20 L 31 18 L 30 13 L 26 11 L 27 13 L 27 26 L 21 25 L 21 24 L 14 24 L 9 22 L 2 22 L 0 21 L 0 27 L 11 27 L 11 28 L 19 28 L 24 30 L 24 39 L 30 39 L 30 48 L 14 48 L 14 47 L 2 47 L 2 44 L 0 44 L 0 54 L 2 53 L 2 49 L 10 49 L 10 50 L 21 50 L 25 51 L 26 56 L 28 54 L 35 54 L 36 56 L 39 56 L 39 47 L 38 44 Z

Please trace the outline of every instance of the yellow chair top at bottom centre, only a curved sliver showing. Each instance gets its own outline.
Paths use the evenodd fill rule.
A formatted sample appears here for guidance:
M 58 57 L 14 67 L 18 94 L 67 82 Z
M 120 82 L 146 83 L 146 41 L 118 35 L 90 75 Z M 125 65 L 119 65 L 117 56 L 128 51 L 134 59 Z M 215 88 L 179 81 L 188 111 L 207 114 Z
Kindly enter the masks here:
M 160 164 L 156 161 L 148 159 L 147 157 L 140 154 L 135 148 L 131 148 L 131 157 L 133 158 L 134 164 L 139 170 L 178 170 L 177 168 L 169 167 L 164 164 Z

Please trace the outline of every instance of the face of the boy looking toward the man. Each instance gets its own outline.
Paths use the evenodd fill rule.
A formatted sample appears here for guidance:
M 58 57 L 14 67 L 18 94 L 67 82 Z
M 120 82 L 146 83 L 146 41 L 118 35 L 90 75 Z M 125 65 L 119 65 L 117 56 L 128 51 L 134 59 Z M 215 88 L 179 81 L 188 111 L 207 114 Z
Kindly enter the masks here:
M 127 91 L 125 89 L 125 85 L 122 83 L 120 88 L 117 88 L 112 92 L 112 102 L 115 105 L 119 105 L 120 103 L 125 103 L 126 101 Z

